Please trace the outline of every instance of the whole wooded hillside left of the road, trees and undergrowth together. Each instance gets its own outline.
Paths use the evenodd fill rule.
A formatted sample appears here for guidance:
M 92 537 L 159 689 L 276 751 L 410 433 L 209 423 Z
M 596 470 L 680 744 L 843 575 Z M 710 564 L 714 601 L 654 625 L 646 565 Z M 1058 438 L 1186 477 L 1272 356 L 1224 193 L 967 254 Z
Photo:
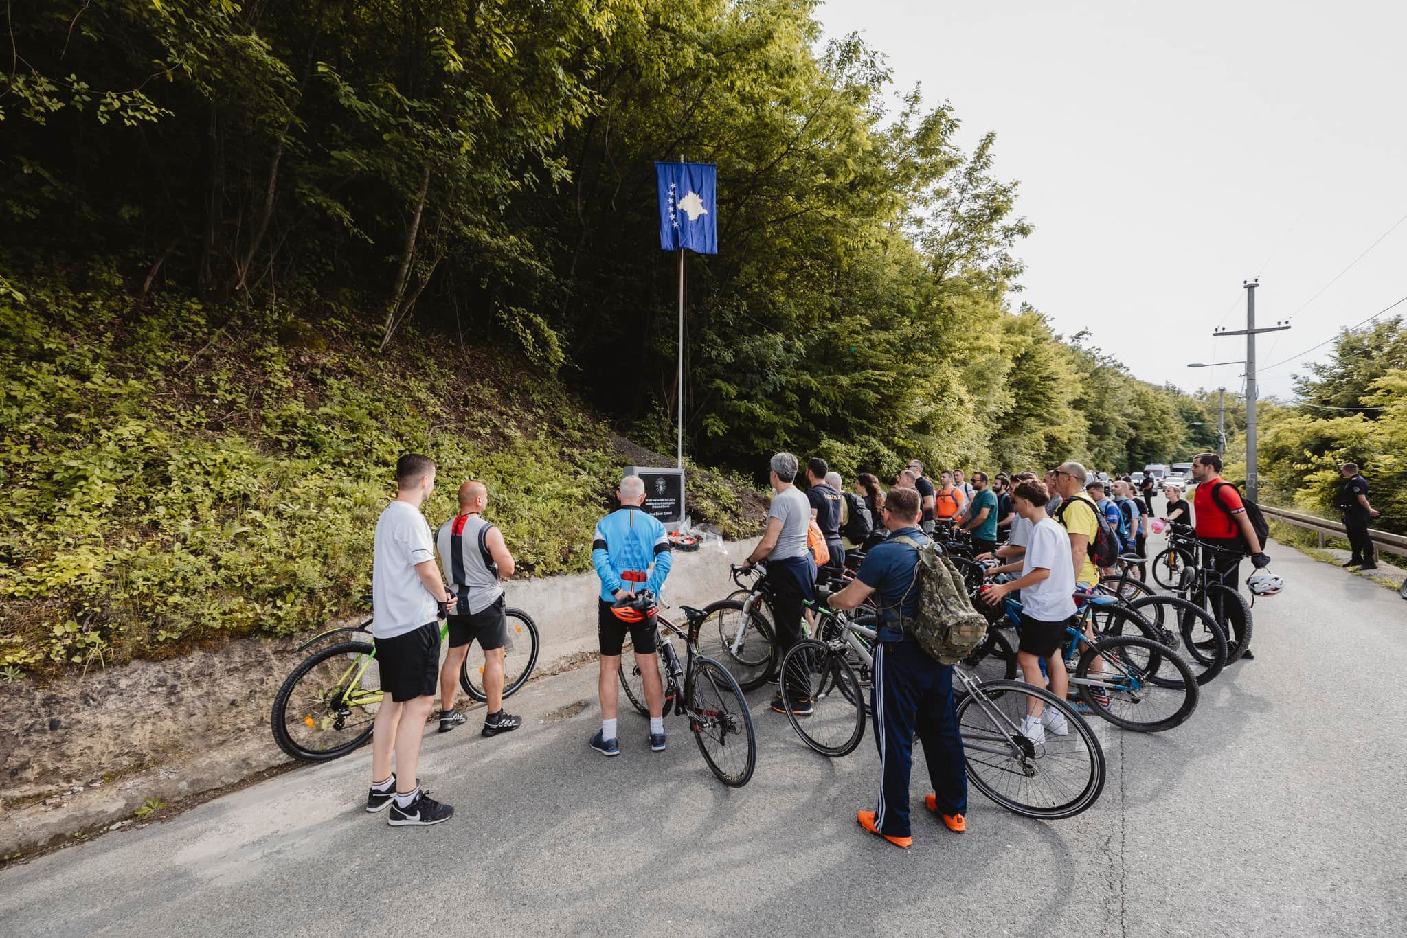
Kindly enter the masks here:
M 682 397 L 691 457 L 757 481 L 782 447 L 889 475 L 1211 446 L 1203 401 L 1013 305 L 995 138 L 960 149 L 816 6 L 7 7 L 0 664 L 357 608 L 405 449 L 501 484 L 525 570 L 580 570 L 615 465 L 564 385 L 664 451 Z M 719 166 L 720 242 L 682 395 L 678 155 Z M 739 498 L 691 488 L 730 533 Z

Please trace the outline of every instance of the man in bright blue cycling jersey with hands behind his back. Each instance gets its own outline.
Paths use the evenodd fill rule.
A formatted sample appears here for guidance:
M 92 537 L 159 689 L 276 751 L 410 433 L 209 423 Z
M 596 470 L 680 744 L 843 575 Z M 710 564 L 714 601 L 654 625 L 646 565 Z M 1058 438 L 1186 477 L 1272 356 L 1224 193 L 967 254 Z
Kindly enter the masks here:
M 664 750 L 664 685 L 660 681 L 660 658 L 656 655 L 654 623 L 649 619 L 626 623 L 616 615 L 615 603 L 639 591 L 656 596 L 670 575 L 673 554 L 670 536 L 657 519 L 646 515 L 644 482 L 639 475 L 620 480 L 620 510 L 597 523 L 591 539 L 591 565 L 601 578 L 597 610 L 597 630 L 601 640 L 601 730 L 591 737 L 591 748 L 601 755 L 619 755 L 616 743 L 616 705 L 620 699 L 620 651 L 626 631 L 635 645 L 635 662 L 644 683 L 644 702 L 650 709 L 650 748 Z

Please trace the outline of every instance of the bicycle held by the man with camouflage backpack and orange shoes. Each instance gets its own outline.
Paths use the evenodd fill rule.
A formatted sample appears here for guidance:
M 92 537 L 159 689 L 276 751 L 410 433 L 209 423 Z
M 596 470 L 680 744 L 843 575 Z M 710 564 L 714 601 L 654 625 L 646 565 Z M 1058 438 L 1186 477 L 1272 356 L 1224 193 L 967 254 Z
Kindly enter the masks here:
M 875 630 L 829 606 L 815 609 L 833 626 L 832 634 L 826 640 L 806 638 L 788 650 L 781 693 L 787 719 L 802 741 L 822 755 L 839 758 L 864 738 L 865 688 L 850 658 L 860 655 L 872 667 Z M 962 686 L 957 717 L 968 778 L 979 792 L 1016 814 L 1045 820 L 1072 817 L 1099 800 L 1104 752 L 1072 706 L 1021 681 L 979 681 L 957 668 L 953 676 Z M 1061 713 L 1071 731 L 1050 733 L 1044 743 L 1033 744 L 1020 731 L 1033 700 Z

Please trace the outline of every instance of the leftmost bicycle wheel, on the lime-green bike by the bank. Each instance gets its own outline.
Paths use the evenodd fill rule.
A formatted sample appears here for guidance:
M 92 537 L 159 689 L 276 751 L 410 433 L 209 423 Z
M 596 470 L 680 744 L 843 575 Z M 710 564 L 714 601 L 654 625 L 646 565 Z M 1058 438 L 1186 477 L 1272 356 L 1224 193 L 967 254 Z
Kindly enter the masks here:
M 371 738 L 381 706 L 373 648 L 369 641 L 343 641 L 293 669 L 273 699 L 270 726 L 280 750 L 304 762 L 326 762 Z

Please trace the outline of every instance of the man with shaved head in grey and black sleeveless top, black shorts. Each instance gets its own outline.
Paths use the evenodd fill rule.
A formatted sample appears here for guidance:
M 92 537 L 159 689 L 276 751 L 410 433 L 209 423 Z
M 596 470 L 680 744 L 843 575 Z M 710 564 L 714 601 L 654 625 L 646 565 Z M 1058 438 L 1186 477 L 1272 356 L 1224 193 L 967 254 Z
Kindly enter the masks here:
M 456 599 L 449 616 L 449 657 L 440 668 L 440 733 L 469 723 L 469 717 L 454 709 L 454 693 L 469 643 L 476 640 L 484 651 L 484 696 L 488 698 L 483 734 L 498 735 L 522 726 L 521 717 L 504 713 L 508 600 L 498 579 L 514 575 L 514 555 L 498 526 L 484 520 L 487 506 L 488 487 L 464 482 L 459 487 L 459 515 L 435 534 L 440 565 Z

